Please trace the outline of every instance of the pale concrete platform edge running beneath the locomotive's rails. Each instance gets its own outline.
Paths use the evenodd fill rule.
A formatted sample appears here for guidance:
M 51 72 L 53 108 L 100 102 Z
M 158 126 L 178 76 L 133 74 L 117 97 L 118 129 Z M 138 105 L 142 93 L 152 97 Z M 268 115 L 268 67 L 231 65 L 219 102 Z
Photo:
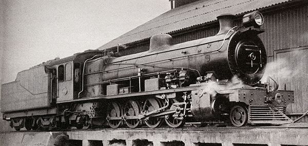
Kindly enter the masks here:
M 66 145 L 308 145 L 307 127 L 183 128 L 8 132 L 0 145 L 54 145 L 67 135 Z

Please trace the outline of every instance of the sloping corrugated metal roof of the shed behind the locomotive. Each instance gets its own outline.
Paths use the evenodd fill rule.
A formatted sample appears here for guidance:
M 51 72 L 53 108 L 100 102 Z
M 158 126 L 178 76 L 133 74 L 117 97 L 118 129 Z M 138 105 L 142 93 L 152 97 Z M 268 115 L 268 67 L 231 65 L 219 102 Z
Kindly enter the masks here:
M 159 33 L 170 33 L 217 20 L 221 14 L 239 15 L 292 0 L 201 0 L 171 9 L 149 22 L 111 40 L 99 49 L 140 41 Z

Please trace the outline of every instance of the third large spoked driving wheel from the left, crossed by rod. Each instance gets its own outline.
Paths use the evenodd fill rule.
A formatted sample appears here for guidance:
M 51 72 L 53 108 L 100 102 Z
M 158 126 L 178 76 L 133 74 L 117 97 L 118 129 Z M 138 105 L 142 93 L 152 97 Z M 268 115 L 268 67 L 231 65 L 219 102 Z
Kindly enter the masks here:
M 161 107 L 162 107 L 162 104 L 159 102 L 158 99 L 148 98 L 144 102 L 143 111 L 145 113 L 148 113 L 148 112 L 157 110 Z M 150 117 L 149 119 L 145 120 L 144 122 L 149 128 L 157 128 L 157 127 L 161 126 L 163 120 L 164 119 L 160 118 L 160 117 Z

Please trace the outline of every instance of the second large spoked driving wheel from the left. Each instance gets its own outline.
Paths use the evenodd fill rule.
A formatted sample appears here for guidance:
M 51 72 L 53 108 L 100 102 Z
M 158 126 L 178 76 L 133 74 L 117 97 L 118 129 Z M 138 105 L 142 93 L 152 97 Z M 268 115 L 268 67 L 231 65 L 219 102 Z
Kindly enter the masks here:
M 128 100 L 125 103 L 125 106 L 124 106 L 125 117 L 137 116 L 140 113 L 141 113 L 141 108 L 137 101 Z M 129 128 L 136 128 L 140 125 L 140 120 L 139 119 L 126 119 L 125 123 Z

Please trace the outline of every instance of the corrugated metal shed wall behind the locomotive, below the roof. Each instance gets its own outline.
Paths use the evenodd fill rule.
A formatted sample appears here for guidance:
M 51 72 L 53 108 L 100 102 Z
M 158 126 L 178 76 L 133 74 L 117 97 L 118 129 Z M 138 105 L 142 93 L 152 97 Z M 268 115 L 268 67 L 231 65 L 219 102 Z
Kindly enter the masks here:
M 308 6 L 285 8 L 263 13 L 265 32 L 260 34 L 266 48 L 268 68 L 265 75 L 278 80 L 280 90 L 293 90 L 295 103 L 288 106 L 289 113 L 303 113 L 308 110 Z M 208 28 L 194 28 L 189 32 L 171 34 L 172 43 L 213 36 L 219 25 Z M 138 46 L 122 50 L 123 54 L 137 53 L 149 49 L 149 40 Z M 276 63 L 275 63 L 276 62 Z M 278 63 L 277 63 L 278 62 Z M 308 121 L 308 118 L 304 119 Z

